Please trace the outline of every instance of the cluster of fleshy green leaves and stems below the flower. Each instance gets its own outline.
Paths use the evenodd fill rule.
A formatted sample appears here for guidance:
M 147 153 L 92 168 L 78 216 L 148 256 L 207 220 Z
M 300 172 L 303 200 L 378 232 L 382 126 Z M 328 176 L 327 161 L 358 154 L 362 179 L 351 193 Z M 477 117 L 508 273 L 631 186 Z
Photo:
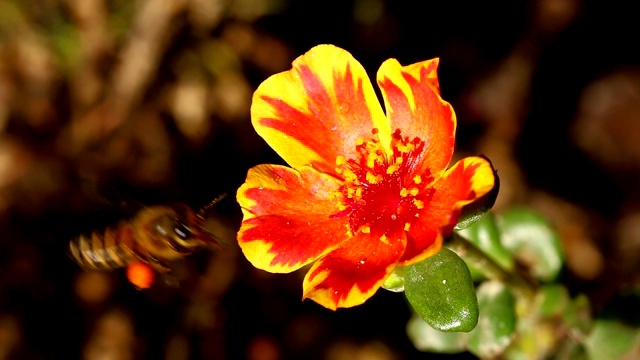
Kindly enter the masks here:
M 562 247 L 542 215 L 525 208 L 488 213 L 457 234 L 467 240 L 451 246 L 474 274 L 477 297 L 468 293 L 460 258 L 446 248 L 394 278 L 417 313 L 407 324 L 417 349 L 508 360 L 640 357 L 640 294 L 617 299 L 593 319 L 588 298 L 572 296 L 557 280 Z M 472 298 L 477 325 L 450 326 Z

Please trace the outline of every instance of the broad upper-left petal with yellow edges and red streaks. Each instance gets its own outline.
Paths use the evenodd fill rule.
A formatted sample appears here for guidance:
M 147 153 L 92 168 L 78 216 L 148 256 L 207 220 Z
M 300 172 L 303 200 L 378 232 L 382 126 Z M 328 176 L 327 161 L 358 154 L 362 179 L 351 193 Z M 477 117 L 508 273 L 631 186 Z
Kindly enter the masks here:
M 351 54 L 319 45 L 293 62 L 293 69 L 271 76 L 256 90 L 253 126 L 292 167 L 313 165 L 335 173 L 337 155 L 355 155 L 356 140 L 389 136 L 367 73 Z

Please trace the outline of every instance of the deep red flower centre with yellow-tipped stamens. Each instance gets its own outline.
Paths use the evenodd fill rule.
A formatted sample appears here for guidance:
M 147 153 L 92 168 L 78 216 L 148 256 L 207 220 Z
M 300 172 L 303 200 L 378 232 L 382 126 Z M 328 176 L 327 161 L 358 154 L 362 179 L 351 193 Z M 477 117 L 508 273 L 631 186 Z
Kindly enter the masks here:
M 420 160 L 424 141 L 402 137 L 396 130 L 391 137 L 389 156 L 378 139 L 378 129 L 370 139 L 358 139 L 357 156 L 336 158 L 336 172 L 344 176 L 338 198 L 341 211 L 333 217 L 349 216 L 349 231 L 372 233 L 386 241 L 388 235 L 409 231 L 433 195 L 428 187 L 429 172 L 411 177 Z

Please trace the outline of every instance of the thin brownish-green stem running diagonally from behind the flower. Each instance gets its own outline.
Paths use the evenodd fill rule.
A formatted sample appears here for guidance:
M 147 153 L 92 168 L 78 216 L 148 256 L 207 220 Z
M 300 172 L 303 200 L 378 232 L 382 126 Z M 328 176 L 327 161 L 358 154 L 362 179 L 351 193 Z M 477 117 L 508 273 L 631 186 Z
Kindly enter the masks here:
M 453 232 L 453 236 L 446 246 L 458 254 L 468 263 L 473 264 L 486 277 L 504 282 L 515 296 L 524 300 L 532 300 L 535 287 L 517 271 L 507 271 L 493 259 L 460 234 Z

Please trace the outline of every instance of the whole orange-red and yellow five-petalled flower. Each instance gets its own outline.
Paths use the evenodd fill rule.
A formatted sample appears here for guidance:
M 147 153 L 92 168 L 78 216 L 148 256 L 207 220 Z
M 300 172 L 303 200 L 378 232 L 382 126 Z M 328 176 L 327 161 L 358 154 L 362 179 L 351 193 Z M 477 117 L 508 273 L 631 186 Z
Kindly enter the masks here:
M 494 173 L 481 157 L 447 169 L 456 118 L 437 67 L 385 61 L 377 81 L 386 116 L 362 65 L 332 45 L 258 87 L 253 126 L 291 167 L 256 166 L 238 189 L 238 242 L 255 267 L 286 273 L 315 262 L 303 299 L 335 310 L 440 250 Z

